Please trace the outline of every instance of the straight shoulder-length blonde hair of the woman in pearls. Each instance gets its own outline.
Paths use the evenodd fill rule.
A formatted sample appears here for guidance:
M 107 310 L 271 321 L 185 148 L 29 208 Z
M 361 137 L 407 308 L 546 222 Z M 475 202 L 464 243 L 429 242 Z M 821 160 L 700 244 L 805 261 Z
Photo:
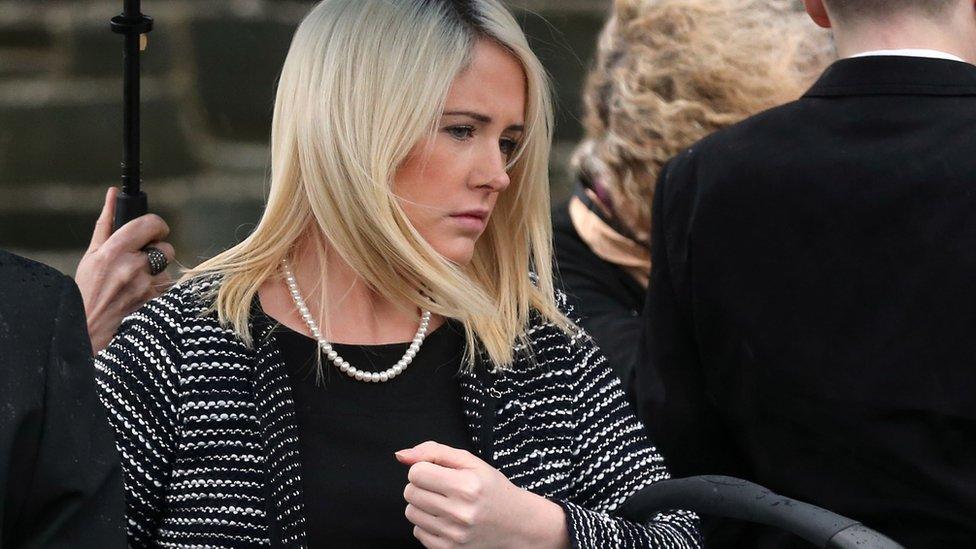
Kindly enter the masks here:
M 433 134 L 454 77 L 481 39 L 505 48 L 525 71 L 526 130 L 510 164 L 511 185 L 470 264 L 459 266 L 410 224 L 392 182 L 412 147 Z M 219 275 L 213 309 L 251 345 L 249 307 L 258 288 L 311 235 L 323 276 L 328 248 L 372 290 L 463 323 L 469 367 L 482 350 L 493 366 L 510 365 L 516 343 L 528 343 L 530 311 L 571 326 L 552 286 L 549 89 L 497 0 L 324 0 L 302 21 L 282 69 L 261 221 L 184 278 Z

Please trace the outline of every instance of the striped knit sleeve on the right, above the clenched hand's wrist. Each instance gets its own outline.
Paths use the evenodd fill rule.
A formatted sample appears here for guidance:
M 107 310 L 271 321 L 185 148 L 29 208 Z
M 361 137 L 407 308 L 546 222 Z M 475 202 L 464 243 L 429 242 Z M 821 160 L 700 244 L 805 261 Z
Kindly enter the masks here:
M 582 331 L 571 348 L 573 480 L 568 497 L 556 502 L 572 546 L 699 547 L 698 519 L 689 511 L 660 513 L 644 524 L 615 516 L 627 498 L 669 474 L 601 351 Z

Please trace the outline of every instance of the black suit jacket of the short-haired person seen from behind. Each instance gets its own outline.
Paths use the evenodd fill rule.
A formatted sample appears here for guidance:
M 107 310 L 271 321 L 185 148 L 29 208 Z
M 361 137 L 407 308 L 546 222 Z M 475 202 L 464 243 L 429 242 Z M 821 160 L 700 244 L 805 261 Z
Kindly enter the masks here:
M 673 159 L 652 242 L 636 383 L 674 473 L 976 547 L 976 67 L 838 61 Z

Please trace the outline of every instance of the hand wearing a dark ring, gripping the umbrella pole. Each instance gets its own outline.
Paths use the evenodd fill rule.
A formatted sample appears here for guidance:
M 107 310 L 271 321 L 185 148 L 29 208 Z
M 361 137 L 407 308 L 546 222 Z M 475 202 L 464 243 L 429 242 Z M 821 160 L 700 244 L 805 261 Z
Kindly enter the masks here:
M 157 215 L 133 219 L 112 233 L 117 192 L 113 187 L 105 194 L 91 244 L 75 272 L 96 354 L 112 340 L 126 315 L 169 288 L 171 281 L 165 271 L 150 275 L 149 260 L 142 249 L 154 246 L 168 261 L 173 261 L 175 254 L 173 246 L 161 242 L 169 234 L 169 226 Z

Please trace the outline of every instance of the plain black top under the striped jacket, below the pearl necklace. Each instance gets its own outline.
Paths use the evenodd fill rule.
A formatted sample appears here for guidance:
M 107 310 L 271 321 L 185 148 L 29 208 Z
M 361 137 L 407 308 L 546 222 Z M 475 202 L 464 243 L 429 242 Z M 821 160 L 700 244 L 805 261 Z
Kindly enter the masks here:
M 463 328 L 448 322 L 428 334 L 413 363 L 386 383 L 356 381 L 325 357 L 317 383 L 315 341 L 281 325 L 274 337 L 295 400 L 308 546 L 420 547 L 403 515 L 408 468 L 393 453 L 427 440 L 473 451 L 458 384 Z M 380 372 L 408 345 L 333 348 Z

